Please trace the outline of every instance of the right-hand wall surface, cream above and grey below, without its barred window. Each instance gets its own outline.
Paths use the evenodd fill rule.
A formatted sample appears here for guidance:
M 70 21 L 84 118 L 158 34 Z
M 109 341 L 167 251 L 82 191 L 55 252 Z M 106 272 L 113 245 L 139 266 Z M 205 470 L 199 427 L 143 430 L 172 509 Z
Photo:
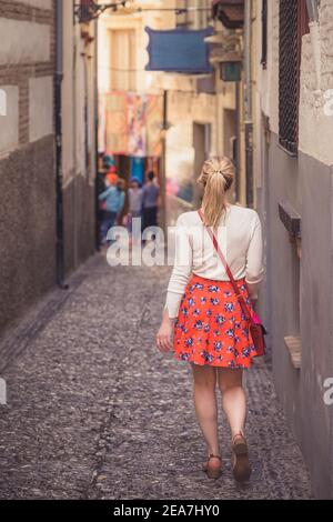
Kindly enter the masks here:
M 319 31 L 312 26 L 302 39 L 300 143 L 299 155 L 292 158 L 279 144 L 279 1 L 269 2 L 268 69 L 259 71 L 256 88 L 269 130 L 260 112 L 255 122 L 262 134 L 259 200 L 269 262 L 260 304 L 270 331 L 276 391 L 317 498 L 333 498 L 333 409 L 324 402 L 324 383 L 333 375 L 333 114 L 324 110 L 333 89 L 332 27 L 333 0 L 322 0 Z M 258 61 L 255 67 L 261 68 Z M 301 259 L 280 220 L 280 202 L 289 202 L 301 215 Z M 301 340 L 300 369 L 292 363 L 285 337 Z

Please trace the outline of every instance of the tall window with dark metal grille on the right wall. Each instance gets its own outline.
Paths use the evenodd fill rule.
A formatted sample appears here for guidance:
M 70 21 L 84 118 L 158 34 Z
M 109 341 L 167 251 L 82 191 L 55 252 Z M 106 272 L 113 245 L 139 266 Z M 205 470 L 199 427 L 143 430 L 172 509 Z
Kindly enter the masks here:
M 305 0 L 280 0 L 279 141 L 293 155 L 299 148 L 301 43 L 306 32 Z

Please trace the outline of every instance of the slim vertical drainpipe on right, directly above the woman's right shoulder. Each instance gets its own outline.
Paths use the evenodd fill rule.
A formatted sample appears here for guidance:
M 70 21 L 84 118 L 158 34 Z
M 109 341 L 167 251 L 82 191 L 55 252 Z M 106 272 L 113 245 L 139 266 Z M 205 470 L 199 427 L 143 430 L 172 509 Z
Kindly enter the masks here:
M 244 12 L 244 128 L 245 128 L 245 177 L 246 177 L 246 205 L 253 205 L 253 121 L 252 121 L 252 76 L 251 76 L 251 44 L 252 44 L 252 0 L 245 1 Z

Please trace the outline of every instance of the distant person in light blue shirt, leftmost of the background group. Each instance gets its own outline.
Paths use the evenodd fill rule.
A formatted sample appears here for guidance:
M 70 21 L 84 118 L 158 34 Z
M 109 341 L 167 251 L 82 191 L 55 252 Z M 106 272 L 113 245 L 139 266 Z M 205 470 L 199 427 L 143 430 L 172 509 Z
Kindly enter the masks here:
M 99 195 L 100 201 L 105 201 L 104 221 L 101 227 L 102 242 L 107 242 L 108 231 L 114 227 L 120 218 L 125 202 L 124 181 L 118 180 L 115 185 L 109 187 Z

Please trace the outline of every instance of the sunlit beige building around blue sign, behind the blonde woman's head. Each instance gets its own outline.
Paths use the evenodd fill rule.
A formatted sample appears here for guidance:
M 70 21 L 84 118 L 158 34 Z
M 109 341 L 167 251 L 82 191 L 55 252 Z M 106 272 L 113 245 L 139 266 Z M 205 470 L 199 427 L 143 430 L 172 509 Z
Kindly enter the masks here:
M 178 212 L 199 204 L 201 189 L 196 184 L 202 164 L 211 155 L 229 155 L 236 165 L 236 182 L 230 195 L 233 202 L 245 203 L 245 155 L 243 124 L 243 79 L 226 78 L 222 63 L 228 59 L 242 59 L 243 19 L 229 23 L 214 16 L 210 1 L 170 2 L 174 8 L 188 8 L 178 13 L 172 26 L 164 29 L 184 31 L 211 28 L 214 34 L 206 37 L 211 72 L 170 73 L 159 79 L 168 93 L 167 177 L 178 180 L 185 190 L 184 197 L 168 199 L 169 223 L 173 224 Z M 181 52 L 181 50 L 180 50 Z M 184 204 L 185 201 L 185 204 Z M 190 204 L 189 204 L 190 203 Z

